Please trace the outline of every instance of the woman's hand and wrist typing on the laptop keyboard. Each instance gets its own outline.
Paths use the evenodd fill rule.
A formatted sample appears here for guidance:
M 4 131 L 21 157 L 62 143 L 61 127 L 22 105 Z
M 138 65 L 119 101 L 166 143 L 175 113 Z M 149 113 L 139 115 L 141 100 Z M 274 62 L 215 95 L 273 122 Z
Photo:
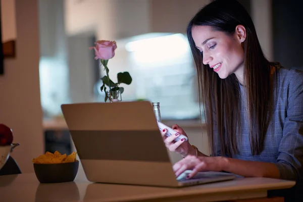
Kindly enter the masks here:
M 182 174 L 185 170 L 192 170 L 187 178 L 191 178 L 198 172 L 206 171 L 222 171 L 224 168 L 224 157 L 195 157 L 187 156 L 173 166 L 176 177 Z

